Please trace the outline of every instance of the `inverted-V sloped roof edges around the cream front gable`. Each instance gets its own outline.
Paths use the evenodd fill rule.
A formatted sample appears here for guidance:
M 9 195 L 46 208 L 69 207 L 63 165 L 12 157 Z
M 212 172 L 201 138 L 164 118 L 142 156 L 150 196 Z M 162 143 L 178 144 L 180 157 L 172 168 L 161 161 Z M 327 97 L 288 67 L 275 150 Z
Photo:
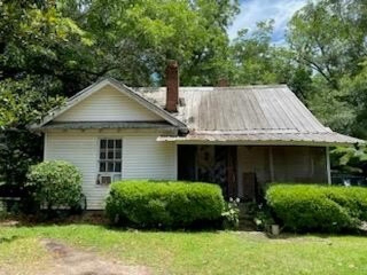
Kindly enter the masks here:
M 187 129 L 186 125 L 183 122 L 178 120 L 176 117 L 172 116 L 170 113 L 164 110 L 163 107 L 153 102 L 150 102 L 147 98 L 143 97 L 138 92 L 134 91 L 133 89 L 127 87 L 125 84 L 120 83 L 119 81 L 115 80 L 114 78 L 110 78 L 110 77 L 101 78 L 99 81 L 83 89 L 82 91 L 74 95 L 73 97 L 69 98 L 65 106 L 52 110 L 50 114 L 40 122 L 40 124 L 33 124 L 30 126 L 30 128 L 31 129 L 43 128 L 44 125 L 51 122 L 55 117 L 69 110 L 71 107 L 75 106 L 77 103 L 86 99 L 88 96 L 99 91 L 101 88 L 105 87 L 106 85 L 111 85 L 112 87 L 116 88 L 122 94 L 128 96 L 131 99 L 134 99 L 136 102 L 146 107 L 150 111 L 153 111 L 155 114 L 159 115 L 161 118 L 163 118 L 167 122 L 176 126 L 178 129 L 181 129 L 181 130 Z

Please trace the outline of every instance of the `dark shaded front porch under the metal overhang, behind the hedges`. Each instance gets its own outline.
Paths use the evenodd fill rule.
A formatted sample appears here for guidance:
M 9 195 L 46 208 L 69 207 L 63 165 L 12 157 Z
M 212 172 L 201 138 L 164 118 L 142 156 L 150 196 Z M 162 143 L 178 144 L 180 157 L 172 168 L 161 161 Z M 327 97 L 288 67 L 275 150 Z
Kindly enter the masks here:
M 227 199 L 253 200 L 272 182 L 328 178 L 326 147 L 178 145 L 178 179 L 217 183 Z

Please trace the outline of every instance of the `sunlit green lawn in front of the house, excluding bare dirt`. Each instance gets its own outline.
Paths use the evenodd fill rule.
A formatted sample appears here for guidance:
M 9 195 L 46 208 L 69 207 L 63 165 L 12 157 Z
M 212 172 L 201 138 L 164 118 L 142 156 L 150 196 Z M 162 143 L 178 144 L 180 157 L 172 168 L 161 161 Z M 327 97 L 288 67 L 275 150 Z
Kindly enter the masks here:
M 96 225 L 0 227 L 0 267 L 20 274 L 24 266 L 37 270 L 50 260 L 41 238 L 92 248 L 157 274 L 367 274 L 365 237 L 269 239 L 250 232 L 117 231 Z

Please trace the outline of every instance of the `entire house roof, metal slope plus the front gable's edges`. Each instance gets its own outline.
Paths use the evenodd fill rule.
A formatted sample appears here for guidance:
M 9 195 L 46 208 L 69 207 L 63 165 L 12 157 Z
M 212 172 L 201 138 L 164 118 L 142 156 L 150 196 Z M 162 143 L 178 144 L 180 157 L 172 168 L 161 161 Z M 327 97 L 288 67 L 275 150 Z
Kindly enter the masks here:
M 292 144 L 353 144 L 360 139 L 341 135 L 323 126 L 286 85 L 243 87 L 180 87 L 177 113 L 168 113 L 166 87 L 129 88 L 113 78 L 103 78 L 52 110 L 33 129 L 165 128 L 159 122 L 125 121 L 54 122 L 55 117 L 106 85 L 153 111 L 186 135 L 161 136 L 175 142 L 237 142 Z

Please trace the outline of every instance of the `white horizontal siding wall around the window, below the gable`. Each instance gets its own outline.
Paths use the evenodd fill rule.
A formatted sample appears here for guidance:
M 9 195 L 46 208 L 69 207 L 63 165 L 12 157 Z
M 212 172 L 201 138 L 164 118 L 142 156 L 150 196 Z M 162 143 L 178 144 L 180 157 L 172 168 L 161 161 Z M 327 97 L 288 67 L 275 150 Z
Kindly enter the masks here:
M 72 162 L 83 172 L 83 193 L 88 209 L 103 209 L 108 187 L 98 186 L 98 140 L 123 140 L 123 179 L 177 179 L 177 147 L 157 142 L 154 131 L 68 130 L 49 131 L 45 141 L 45 159 Z

